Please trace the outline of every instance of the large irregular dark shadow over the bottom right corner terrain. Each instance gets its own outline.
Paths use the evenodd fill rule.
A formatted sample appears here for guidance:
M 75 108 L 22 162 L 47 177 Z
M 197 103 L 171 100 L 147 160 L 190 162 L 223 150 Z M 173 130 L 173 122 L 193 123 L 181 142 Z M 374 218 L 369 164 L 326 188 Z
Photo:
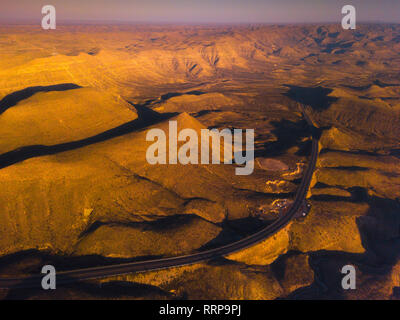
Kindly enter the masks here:
M 287 299 L 344 299 L 345 291 L 341 287 L 345 265 L 356 266 L 357 289 L 370 292 L 371 298 L 378 297 L 373 292 L 379 287 L 380 279 L 392 272 L 393 266 L 400 258 L 400 202 L 368 195 L 364 188 L 347 189 L 352 193 L 351 202 L 364 202 L 369 205 L 368 212 L 356 218 L 364 253 L 346 253 L 343 251 L 316 251 L 309 254 L 309 265 L 314 272 L 314 283 L 300 288 Z M 347 200 L 349 201 L 349 200 Z M 274 263 L 273 270 L 283 274 L 285 265 L 280 257 Z M 364 281 L 363 281 L 364 280 Z M 376 285 L 374 285 L 376 281 Z M 371 286 L 371 287 L 369 287 Z M 375 295 L 376 294 L 376 295 Z M 392 296 L 398 294 L 393 288 Z M 368 298 L 368 297 L 367 297 Z

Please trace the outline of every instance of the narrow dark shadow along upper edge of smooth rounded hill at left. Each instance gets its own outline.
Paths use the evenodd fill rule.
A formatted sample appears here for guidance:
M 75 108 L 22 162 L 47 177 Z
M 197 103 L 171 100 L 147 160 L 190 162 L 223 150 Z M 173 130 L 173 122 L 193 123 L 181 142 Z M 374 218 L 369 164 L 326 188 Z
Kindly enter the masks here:
M 37 87 L 25 88 L 23 90 L 10 93 L 9 95 L 6 95 L 3 99 L 1 99 L 0 114 L 4 113 L 7 109 L 11 107 L 14 107 L 15 105 L 18 104 L 18 102 L 28 99 L 38 92 L 67 91 L 79 88 L 82 87 L 74 83 L 61 83 L 52 86 L 37 86 Z

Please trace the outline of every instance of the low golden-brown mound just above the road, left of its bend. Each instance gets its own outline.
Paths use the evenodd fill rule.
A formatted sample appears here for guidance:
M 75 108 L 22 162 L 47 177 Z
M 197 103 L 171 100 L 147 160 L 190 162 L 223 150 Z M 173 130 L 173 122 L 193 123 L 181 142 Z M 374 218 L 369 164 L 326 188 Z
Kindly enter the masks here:
M 161 219 L 157 223 L 110 223 L 91 230 L 78 242 L 74 254 L 104 257 L 177 256 L 192 252 L 221 232 L 199 217 Z

